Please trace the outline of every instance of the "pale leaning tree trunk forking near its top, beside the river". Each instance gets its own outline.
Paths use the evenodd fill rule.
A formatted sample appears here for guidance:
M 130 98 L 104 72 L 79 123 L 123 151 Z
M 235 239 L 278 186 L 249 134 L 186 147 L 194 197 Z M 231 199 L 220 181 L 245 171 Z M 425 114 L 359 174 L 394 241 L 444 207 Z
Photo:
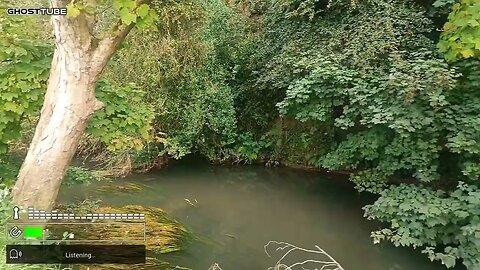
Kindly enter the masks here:
M 53 0 L 53 7 L 70 1 Z M 35 135 L 13 188 L 14 203 L 51 210 L 65 172 L 92 114 L 102 107 L 95 83 L 131 26 L 97 40 L 92 18 L 53 16 L 56 49 Z

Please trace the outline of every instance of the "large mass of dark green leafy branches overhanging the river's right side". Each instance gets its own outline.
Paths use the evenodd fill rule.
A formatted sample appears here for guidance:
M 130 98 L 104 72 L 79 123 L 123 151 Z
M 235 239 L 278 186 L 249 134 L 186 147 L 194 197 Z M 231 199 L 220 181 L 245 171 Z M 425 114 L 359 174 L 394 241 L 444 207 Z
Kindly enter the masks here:
M 440 55 L 438 18 L 413 1 L 273 1 L 242 81 L 249 98 L 237 100 L 239 119 L 262 117 L 258 141 L 280 141 L 280 159 L 349 171 L 359 190 L 378 193 L 367 216 L 391 228 L 375 241 L 477 269 L 480 63 L 469 42 L 480 38 L 478 7 L 454 5 Z M 277 116 L 257 113 L 259 101 Z M 423 186 L 389 187 L 395 179 Z

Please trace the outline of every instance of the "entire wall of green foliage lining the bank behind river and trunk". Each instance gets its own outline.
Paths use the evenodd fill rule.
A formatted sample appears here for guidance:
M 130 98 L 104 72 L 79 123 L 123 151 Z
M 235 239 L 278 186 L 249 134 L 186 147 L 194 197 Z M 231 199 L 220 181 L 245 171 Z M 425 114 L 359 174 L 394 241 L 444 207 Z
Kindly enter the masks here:
M 359 191 L 378 195 L 365 216 L 388 225 L 374 242 L 480 268 L 478 0 L 168 0 L 144 9 L 121 15 L 133 23 L 153 14 L 156 27 L 135 30 L 110 61 L 97 84 L 105 107 L 79 154 L 119 174 L 191 153 L 347 171 Z M 0 19 L 0 168 L 12 168 L 5 156 L 39 114 L 52 56 L 49 38 L 17 19 Z

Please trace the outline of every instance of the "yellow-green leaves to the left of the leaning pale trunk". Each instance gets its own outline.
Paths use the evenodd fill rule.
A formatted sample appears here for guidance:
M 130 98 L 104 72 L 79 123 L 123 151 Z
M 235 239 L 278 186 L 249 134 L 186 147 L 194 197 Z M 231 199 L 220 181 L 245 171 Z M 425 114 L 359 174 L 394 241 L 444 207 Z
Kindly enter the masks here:
M 43 100 L 53 51 L 47 42 L 27 34 L 32 24 L 0 18 L 0 154 L 18 139 L 21 121 L 37 114 Z

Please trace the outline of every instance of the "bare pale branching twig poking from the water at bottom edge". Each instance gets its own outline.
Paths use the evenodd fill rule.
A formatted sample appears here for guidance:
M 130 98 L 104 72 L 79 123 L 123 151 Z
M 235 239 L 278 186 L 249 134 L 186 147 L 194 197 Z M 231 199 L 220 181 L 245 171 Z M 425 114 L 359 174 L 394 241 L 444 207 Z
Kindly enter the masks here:
M 270 256 L 270 253 L 268 253 L 268 248 L 271 247 L 272 245 L 277 246 L 274 251 L 275 252 L 281 252 L 283 255 L 280 256 L 280 259 L 275 263 L 275 266 L 269 267 L 268 270 L 293 270 L 295 267 L 297 269 L 308 269 L 305 268 L 305 264 L 314 264 L 318 265 L 314 269 L 317 270 L 344 270 L 343 267 L 332 257 L 330 256 L 326 251 L 321 249 L 319 246 L 315 246 L 316 249 L 314 250 L 309 250 L 301 247 L 297 247 L 295 245 L 286 243 L 286 242 L 278 242 L 278 241 L 269 241 L 268 244 L 266 244 L 263 249 L 265 250 L 265 253 Z M 325 259 L 306 259 L 303 261 L 298 261 L 298 262 L 290 262 L 287 265 L 284 261 L 287 259 L 287 256 L 291 254 L 294 251 L 300 251 L 303 252 L 304 254 L 302 255 L 316 255 L 316 256 L 322 256 L 325 257 Z M 291 259 L 291 258 L 289 258 Z M 320 268 L 318 268 L 320 267 Z

